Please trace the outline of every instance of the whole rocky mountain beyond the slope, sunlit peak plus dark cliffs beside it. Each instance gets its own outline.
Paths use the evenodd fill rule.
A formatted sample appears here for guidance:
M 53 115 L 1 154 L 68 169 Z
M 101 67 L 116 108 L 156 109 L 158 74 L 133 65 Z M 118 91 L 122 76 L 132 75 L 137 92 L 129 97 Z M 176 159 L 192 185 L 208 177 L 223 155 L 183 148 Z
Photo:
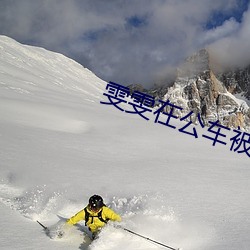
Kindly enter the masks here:
M 205 126 L 219 120 L 223 126 L 249 130 L 249 68 L 219 73 L 211 61 L 208 50 L 202 49 L 179 66 L 170 86 L 145 92 L 182 108 L 174 112 L 180 118 L 193 111 L 186 120 L 194 124 L 199 123 L 199 114 Z

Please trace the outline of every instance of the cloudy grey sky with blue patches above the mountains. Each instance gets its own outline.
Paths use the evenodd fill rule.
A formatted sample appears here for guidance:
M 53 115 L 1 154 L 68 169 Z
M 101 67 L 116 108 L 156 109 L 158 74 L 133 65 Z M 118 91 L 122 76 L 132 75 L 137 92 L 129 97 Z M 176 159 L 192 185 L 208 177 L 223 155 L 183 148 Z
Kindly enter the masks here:
M 250 62 L 250 0 L 0 0 L 0 34 L 149 86 L 204 47 Z

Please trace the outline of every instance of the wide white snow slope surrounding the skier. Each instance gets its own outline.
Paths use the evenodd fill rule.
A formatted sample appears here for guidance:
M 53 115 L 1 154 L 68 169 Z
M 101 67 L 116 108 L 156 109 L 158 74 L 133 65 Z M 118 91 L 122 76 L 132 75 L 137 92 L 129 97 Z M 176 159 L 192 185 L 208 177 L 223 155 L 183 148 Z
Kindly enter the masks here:
M 230 151 L 233 132 L 213 147 L 206 128 L 195 139 L 100 104 L 105 88 L 63 55 L 0 36 L 0 249 L 163 249 L 112 225 L 90 244 L 82 222 L 63 239 L 36 223 L 54 228 L 97 193 L 124 227 L 171 247 L 248 250 L 249 157 Z

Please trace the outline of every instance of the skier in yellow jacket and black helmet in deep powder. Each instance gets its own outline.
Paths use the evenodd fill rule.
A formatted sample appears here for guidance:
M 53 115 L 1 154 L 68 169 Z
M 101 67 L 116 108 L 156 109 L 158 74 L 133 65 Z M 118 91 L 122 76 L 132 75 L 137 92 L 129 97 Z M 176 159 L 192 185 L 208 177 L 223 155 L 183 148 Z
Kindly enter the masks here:
M 101 196 L 95 194 L 89 198 L 89 204 L 72 216 L 67 224 L 74 225 L 80 220 L 85 220 L 85 226 L 92 232 L 92 238 L 94 239 L 109 220 L 120 222 L 122 219 L 113 210 L 105 206 Z

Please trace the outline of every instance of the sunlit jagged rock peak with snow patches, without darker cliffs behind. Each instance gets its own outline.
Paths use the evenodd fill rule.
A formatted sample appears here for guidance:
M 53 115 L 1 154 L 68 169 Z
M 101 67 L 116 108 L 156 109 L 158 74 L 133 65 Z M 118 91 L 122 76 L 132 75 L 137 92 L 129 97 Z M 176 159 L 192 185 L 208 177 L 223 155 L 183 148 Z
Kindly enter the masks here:
M 179 67 L 177 78 L 163 100 L 182 108 L 175 110 L 178 117 L 193 111 L 190 120 L 195 124 L 200 114 L 204 125 L 219 120 L 221 125 L 229 128 L 250 127 L 247 103 L 233 96 L 216 77 L 210 66 L 209 52 L 205 49 L 187 58 Z

